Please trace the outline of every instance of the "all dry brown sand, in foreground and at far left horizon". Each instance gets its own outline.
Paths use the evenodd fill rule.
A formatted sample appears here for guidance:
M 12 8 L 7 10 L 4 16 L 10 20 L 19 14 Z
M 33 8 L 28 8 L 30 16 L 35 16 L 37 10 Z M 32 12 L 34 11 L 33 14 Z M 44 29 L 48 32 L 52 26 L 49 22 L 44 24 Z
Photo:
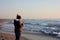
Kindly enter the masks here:
M 0 19 L 0 23 L 8 21 L 9 19 Z M 0 25 L 0 29 L 1 29 Z M 14 34 L 9 34 L 9 33 L 0 33 L 0 40 L 15 40 L 15 35 Z M 21 37 L 21 40 L 28 40 L 25 37 Z

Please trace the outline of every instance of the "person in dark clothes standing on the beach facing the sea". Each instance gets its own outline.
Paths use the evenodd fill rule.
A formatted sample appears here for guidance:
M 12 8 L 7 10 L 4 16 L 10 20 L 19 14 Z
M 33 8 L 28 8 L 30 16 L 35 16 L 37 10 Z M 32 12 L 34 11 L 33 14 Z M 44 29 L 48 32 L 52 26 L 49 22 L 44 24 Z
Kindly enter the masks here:
M 22 32 L 22 27 L 23 27 L 23 23 L 21 23 L 21 16 L 17 14 L 16 19 L 14 19 L 14 26 L 15 26 L 15 36 L 16 39 L 15 40 L 19 40 L 20 36 L 21 36 L 21 32 Z

